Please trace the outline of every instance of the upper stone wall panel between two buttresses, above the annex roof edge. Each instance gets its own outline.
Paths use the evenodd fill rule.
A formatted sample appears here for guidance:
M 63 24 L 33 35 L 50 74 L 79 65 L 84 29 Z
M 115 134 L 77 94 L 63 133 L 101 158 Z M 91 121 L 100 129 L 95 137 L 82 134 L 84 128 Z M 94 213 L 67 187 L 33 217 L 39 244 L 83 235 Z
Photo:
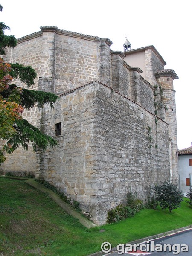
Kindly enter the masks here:
M 56 93 L 71 90 L 97 78 L 99 44 L 97 41 L 66 35 L 56 36 Z

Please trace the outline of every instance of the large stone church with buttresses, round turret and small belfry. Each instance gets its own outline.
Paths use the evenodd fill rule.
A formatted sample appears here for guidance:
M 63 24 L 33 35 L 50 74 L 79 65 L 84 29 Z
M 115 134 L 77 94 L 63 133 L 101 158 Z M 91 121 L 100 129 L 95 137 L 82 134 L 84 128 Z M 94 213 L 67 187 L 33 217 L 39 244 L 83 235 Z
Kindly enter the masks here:
M 33 152 L 18 148 L 0 166 L 31 172 L 80 202 L 98 225 L 129 191 L 148 200 L 151 186 L 178 183 L 175 90 L 178 79 L 153 45 L 112 51 L 108 38 L 41 27 L 7 49 L 9 62 L 32 66 L 33 90 L 59 96 L 23 117 L 58 141 Z

